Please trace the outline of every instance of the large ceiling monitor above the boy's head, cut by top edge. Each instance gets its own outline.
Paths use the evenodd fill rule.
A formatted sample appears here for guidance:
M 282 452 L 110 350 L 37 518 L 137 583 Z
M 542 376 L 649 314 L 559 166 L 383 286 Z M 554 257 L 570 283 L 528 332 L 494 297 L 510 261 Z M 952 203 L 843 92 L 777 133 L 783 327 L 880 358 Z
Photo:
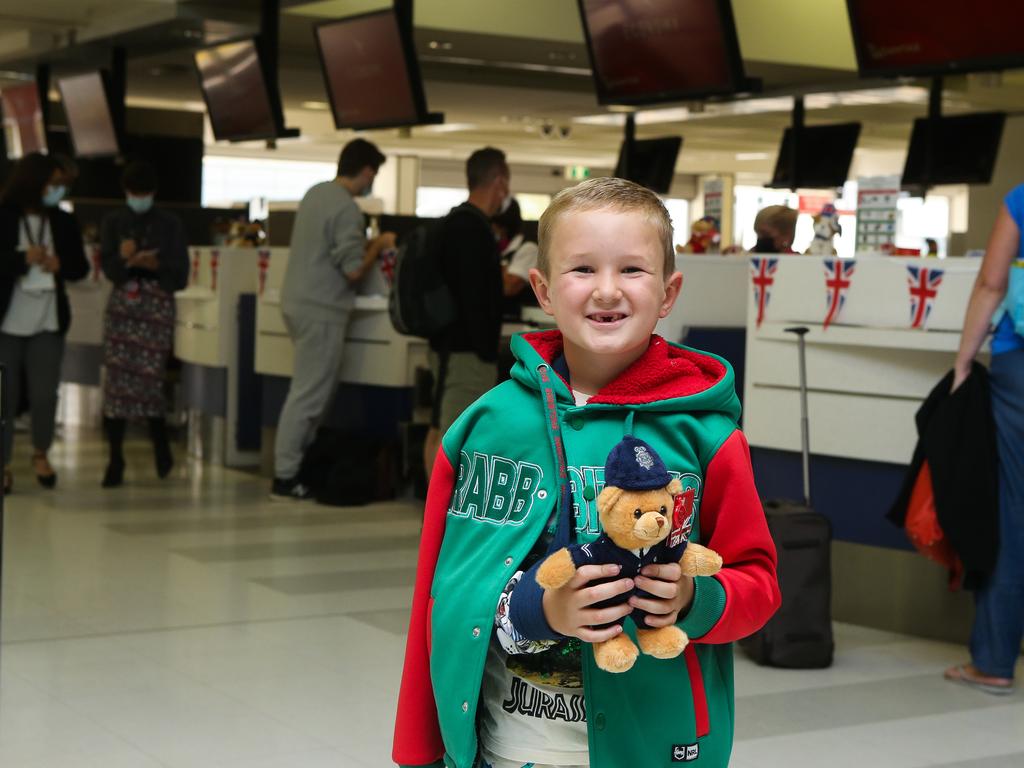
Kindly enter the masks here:
M 729 0 L 578 0 L 597 100 L 654 104 L 746 82 Z

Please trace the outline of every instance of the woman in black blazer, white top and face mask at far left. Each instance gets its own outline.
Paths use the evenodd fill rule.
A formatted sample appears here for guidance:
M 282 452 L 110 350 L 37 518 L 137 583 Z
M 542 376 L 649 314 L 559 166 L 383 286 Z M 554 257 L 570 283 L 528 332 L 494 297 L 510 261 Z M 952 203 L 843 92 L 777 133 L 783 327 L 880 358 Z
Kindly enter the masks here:
M 67 281 L 89 273 L 82 233 L 74 216 L 59 210 L 65 196 L 60 167 L 32 153 L 11 171 L 0 198 L 0 362 L 6 367 L 3 396 L 13 414 L 23 376 L 32 396 L 32 466 L 43 487 L 57 475 L 46 457 L 53 442 L 63 337 L 71 325 Z M 3 489 L 12 484 L 13 425 L 3 433 Z

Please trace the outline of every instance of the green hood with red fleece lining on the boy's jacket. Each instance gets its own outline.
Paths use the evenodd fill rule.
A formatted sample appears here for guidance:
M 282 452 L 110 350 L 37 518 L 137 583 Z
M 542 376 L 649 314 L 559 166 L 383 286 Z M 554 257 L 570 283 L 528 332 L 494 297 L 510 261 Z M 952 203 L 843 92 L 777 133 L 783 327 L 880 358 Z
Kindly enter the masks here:
M 562 352 L 561 331 L 531 331 L 512 339 L 516 357 L 512 378 L 540 390 L 538 367 L 551 364 Z M 568 382 L 556 380 L 556 395 L 573 403 Z M 614 406 L 637 411 L 719 411 L 739 419 L 732 367 L 718 355 L 652 335 L 647 351 L 614 381 L 601 389 L 587 407 Z

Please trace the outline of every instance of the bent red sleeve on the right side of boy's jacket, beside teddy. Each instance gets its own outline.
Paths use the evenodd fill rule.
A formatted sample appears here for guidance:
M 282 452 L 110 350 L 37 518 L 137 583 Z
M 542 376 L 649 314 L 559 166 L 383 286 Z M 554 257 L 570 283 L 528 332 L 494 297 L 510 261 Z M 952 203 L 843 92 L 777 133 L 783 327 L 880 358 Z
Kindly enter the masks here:
M 761 629 L 782 599 L 775 543 L 754 486 L 751 451 L 738 429 L 708 465 L 700 528 L 705 546 L 725 562 L 714 577 L 725 589 L 725 607 L 700 642 L 733 642 Z

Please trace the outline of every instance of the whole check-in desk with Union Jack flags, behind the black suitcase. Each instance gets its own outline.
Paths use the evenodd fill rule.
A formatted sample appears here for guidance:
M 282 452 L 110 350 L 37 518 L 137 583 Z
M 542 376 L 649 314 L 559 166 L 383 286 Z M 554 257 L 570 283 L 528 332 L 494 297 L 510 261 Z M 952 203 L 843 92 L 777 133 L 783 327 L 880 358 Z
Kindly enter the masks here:
M 758 489 L 802 496 L 797 339 L 785 329 L 805 326 L 811 500 L 834 527 L 834 615 L 962 640 L 970 601 L 949 595 L 942 569 L 911 554 L 885 514 L 916 442 L 914 414 L 952 367 L 980 260 L 864 255 L 853 263 L 827 329 L 820 257 L 778 257 L 760 327 L 749 270 L 743 430 Z M 935 295 L 922 328 L 911 327 L 908 266 L 942 270 L 926 286 Z M 920 275 L 914 285 L 920 293 Z

